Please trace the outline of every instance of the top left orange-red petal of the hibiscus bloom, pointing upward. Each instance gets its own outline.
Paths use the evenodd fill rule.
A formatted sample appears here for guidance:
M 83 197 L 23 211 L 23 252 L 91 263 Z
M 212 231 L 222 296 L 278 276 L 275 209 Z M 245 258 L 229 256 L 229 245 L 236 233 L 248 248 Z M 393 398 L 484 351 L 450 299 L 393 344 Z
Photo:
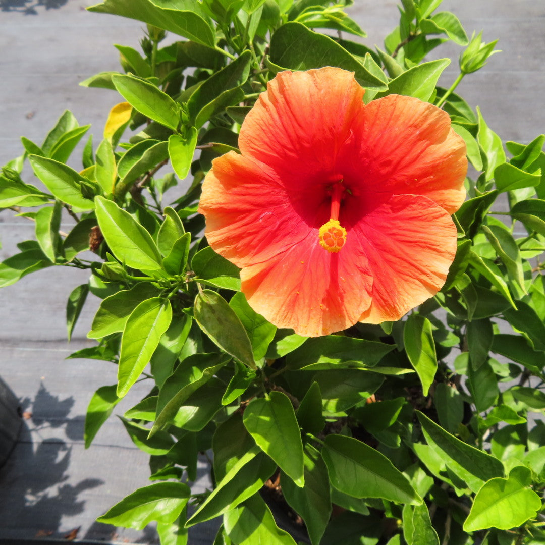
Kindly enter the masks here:
M 279 72 L 247 114 L 240 150 L 299 186 L 336 174 L 337 153 L 364 107 L 363 95 L 353 72 L 340 68 Z

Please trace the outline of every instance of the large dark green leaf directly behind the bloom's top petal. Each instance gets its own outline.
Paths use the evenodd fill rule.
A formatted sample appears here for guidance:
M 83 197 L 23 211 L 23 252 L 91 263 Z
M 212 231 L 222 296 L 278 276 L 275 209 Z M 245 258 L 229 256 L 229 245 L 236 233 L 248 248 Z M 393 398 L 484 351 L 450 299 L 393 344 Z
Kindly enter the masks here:
M 297 47 L 293 45 L 297 44 Z M 278 69 L 310 70 L 338 66 L 355 73 L 362 87 L 383 90 L 385 83 L 358 62 L 346 49 L 324 34 L 310 31 L 298 22 L 276 29 L 270 41 L 270 60 Z

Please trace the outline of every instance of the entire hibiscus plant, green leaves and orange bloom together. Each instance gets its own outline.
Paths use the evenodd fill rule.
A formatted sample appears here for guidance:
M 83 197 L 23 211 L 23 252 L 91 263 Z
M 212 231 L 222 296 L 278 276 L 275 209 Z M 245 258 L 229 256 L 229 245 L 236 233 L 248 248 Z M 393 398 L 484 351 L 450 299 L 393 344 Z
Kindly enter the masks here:
M 217 544 L 545 543 L 545 136 L 505 150 L 456 94 L 495 41 L 440 0 L 403 0 L 383 49 L 350 3 L 94 5 L 147 23 L 83 82 L 122 97 L 104 137 L 65 112 L 2 168 L 36 236 L 0 286 L 87 269 L 69 337 L 101 299 L 70 356 L 113 364 L 87 446 L 149 381 L 122 422 L 153 483 L 101 522 L 162 545 L 217 517 Z M 426 55 L 448 40 L 445 89 Z

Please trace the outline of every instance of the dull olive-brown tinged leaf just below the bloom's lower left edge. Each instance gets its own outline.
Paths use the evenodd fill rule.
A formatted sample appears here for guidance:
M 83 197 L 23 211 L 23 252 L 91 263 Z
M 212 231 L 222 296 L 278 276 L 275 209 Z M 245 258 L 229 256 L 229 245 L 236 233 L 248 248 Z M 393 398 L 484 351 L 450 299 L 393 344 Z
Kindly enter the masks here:
M 195 320 L 212 341 L 227 354 L 255 369 L 250 339 L 237 314 L 216 292 L 204 289 L 195 298 Z

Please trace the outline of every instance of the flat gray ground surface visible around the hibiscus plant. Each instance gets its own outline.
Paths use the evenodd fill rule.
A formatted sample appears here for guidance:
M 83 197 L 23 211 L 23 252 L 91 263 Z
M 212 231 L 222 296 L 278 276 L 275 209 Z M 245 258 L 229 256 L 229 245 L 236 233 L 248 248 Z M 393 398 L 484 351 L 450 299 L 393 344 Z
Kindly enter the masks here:
M 87 13 L 84 7 L 90 3 L 0 0 L 0 165 L 21 153 L 20 136 L 40 143 L 65 108 L 81 124 L 92 123 L 95 141 L 100 140 L 106 113 L 120 99 L 108 90 L 78 87 L 78 82 L 99 71 L 117 70 L 112 44 L 137 47 L 143 25 Z M 443 9 L 454 11 L 468 32 L 484 29 L 485 41 L 500 39 L 502 53 L 481 72 L 467 76 L 459 93 L 471 106 L 481 107 L 504 141 L 529 142 L 544 132 L 545 1 L 445 0 Z M 397 24 L 396 3 L 390 0 L 355 0 L 350 11 L 368 32 L 363 41 L 370 46 L 381 46 Z M 460 51 L 447 45 L 434 53 L 433 58 L 453 56 L 440 80 L 445 87 L 457 75 Z M 77 161 L 73 166 L 78 167 Z M 0 259 L 13 255 L 15 244 L 24 238 L 33 238 L 32 223 L 10 211 L 0 213 Z M 83 448 L 89 398 L 99 386 L 116 381 L 115 368 L 106 362 L 64 359 L 93 344 L 86 339 L 98 306 L 92 296 L 70 345 L 65 340 L 66 297 L 86 281 L 82 271 L 46 269 L 0 290 L 0 376 L 19 396 L 22 409 L 32 413 L 23 422 L 13 455 L 0 469 L 0 540 L 13 542 L 40 532 L 63 537 L 81 526 L 78 539 L 157 542 L 153 530 L 94 522 L 149 481 L 148 456 L 134 447 L 118 419 L 108 420 L 92 447 Z M 135 387 L 115 412 L 122 414 L 145 393 L 146 385 Z M 208 485 L 204 463 L 199 470 L 196 491 Z M 193 535 L 190 543 L 212 541 L 211 534 Z

